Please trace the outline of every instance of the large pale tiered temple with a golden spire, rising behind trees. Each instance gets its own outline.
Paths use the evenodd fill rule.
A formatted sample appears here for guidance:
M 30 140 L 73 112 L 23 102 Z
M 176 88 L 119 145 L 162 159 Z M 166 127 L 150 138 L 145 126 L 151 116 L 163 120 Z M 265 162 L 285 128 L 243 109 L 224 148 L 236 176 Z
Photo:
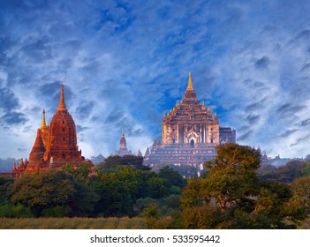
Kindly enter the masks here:
M 236 143 L 236 131 L 220 127 L 218 116 L 196 98 L 191 73 L 182 101 L 163 116 L 163 138 L 145 153 L 148 165 L 190 165 L 202 169 L 216 155 L 215 147 Z

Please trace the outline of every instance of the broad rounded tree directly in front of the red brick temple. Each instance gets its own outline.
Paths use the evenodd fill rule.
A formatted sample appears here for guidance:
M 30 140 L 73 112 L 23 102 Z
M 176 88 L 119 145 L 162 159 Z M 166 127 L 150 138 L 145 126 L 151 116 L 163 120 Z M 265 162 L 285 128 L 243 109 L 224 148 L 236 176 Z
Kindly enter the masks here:
M 72 175 L 61 170 L 24 175 L 11 186 L 11 202 L 31 208 L 36 216 L 57 206 L 69 206 L 68 215 L 85 216 L 93 210 L 98 199 L 86 184 L 75 181 Z

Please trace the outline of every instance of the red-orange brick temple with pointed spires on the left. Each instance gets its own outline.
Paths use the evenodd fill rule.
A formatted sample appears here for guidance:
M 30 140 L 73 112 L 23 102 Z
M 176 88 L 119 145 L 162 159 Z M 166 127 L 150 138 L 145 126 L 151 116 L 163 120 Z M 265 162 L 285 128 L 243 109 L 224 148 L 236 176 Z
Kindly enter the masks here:
M 20 164 L 14 164 L 12 174 L 19 178 L 24 173 L 62 168 L 65 164 L 72 164 L 74 168 L 78 168 L 85 162 L 77 145 L 75 123 L 65 106 L 64 85 L 62 85 L 57 112 L 48 126 L 43 109 L 41 128 L 37 129 L 29 161 L 21 160 Z M 90 161 L 87 162 L 92 165 Z

